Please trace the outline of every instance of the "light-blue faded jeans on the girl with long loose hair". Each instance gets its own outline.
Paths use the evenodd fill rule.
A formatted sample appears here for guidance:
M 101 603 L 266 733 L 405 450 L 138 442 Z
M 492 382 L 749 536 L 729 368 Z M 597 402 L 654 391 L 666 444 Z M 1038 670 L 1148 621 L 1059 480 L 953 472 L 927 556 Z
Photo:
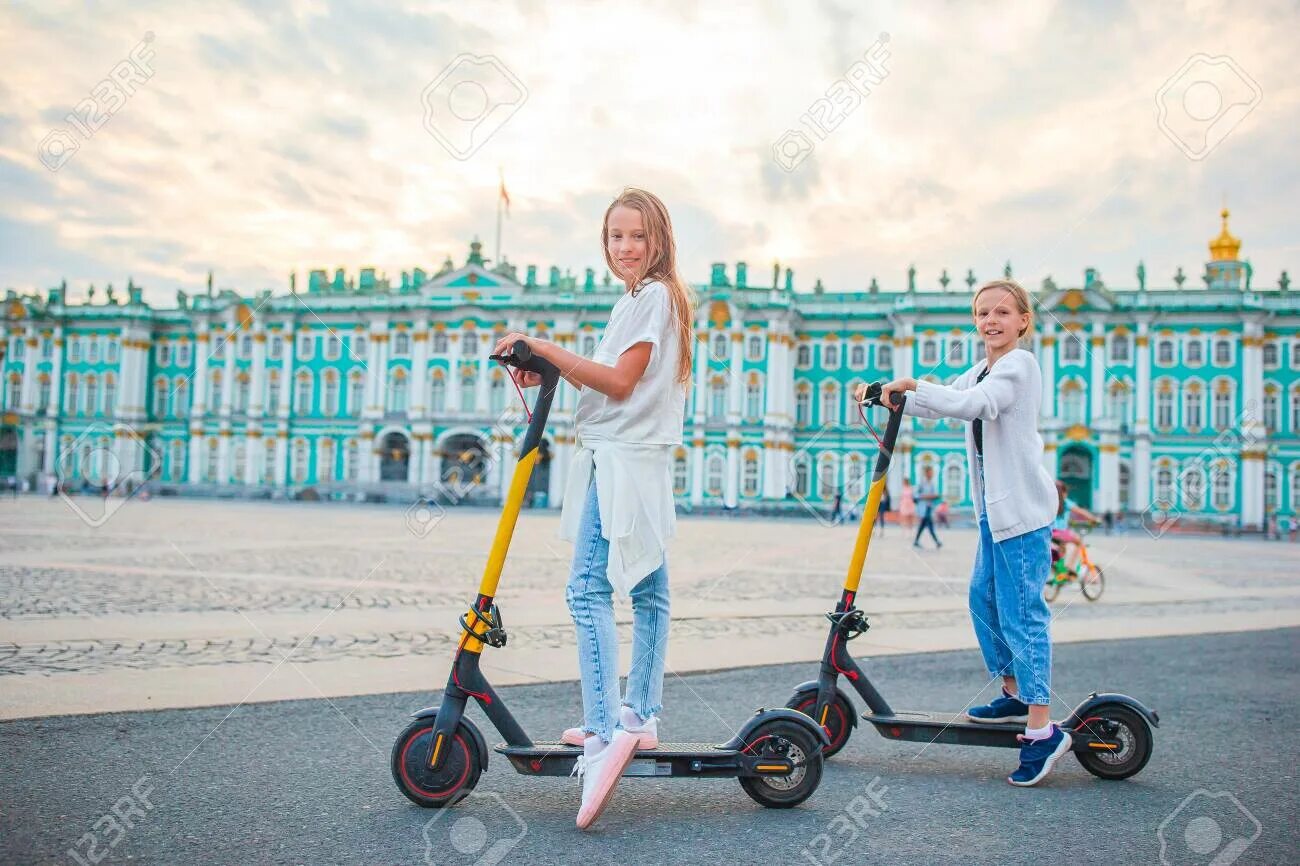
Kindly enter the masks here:
M 582 729 L 608 742 L 619 722 L 619 632 L 614 624 L 614 586 L 607 575 L 610 542 L 601 537 L 595 480 L 588 488 L 564 596 L 577 628 L 577 664 L 582 674 Z M 663 700 L 663 663 L 668 649 L 668 562 L 632 589 L 632 668 L 624 706 L 642 719 Z

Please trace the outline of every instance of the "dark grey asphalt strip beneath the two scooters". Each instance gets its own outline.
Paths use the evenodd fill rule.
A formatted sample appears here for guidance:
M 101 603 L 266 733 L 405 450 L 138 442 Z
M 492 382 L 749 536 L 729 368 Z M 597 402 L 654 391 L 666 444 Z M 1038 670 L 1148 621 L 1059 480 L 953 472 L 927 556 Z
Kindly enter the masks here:
M 1066 758 L 1018 789 L 1004 781 L 1014 752 L 892 742 L 863 727 L 803 806 L 762 809 L 734 780 L 625 779 L 588 833 L 573 827 L 576 780 L 521 778 L 495 754 L 454 809 L 402 797 L 389 749 L 434 690 L 8 722 L 0 862 L 1297 862 L 1297 650 L 1300 629 L 1058 646 L 1054 716 L 1092 690 L 1160 713 L 1150 763 L 1126 781 Z M 992 697 L 980 667 L 974 651 L 870 663 L 896 709 L 931 710 Z M 670 676 L 662 735 L 722 741 L 814 674 Z M 430 658 L 430 683 L 445 676 L 446 659 Z M 572 683 L 502 694 L 534 739 L 578 716 Z

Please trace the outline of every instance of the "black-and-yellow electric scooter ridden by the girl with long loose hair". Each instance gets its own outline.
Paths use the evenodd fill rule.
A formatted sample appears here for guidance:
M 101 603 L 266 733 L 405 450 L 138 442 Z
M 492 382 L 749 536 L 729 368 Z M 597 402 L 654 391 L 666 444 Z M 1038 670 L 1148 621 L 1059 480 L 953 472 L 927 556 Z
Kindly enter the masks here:
M 533 742 L 478 667 L 485 646 L 506 646 L 506 627 L 495 602 L 497 584 L 560 378 L 559 369 L 533 355 L 524 342 L 511 346 L 508 354 L 493 355 L 491 359 L 538 373 L 542 385 L 504 495 L 478 597 L 460 618 L 460 641 L 442 692 L 442 703 L 416 713 L 393 744 L 393 780 L 408 800 L 432 809 L 451 806 L 467 797 L 488 768 L 488 742 L 464 715 L 469 698 L 478 702 L 504 737 L 495 752 L 506 755 L 520 774 L 569 776 L 582 754 L 580 746 Z M 638 750 L 623 775 L 736 778 L 754 801 L 772 809 L 786 809 L 803 802 L 816 791 L 827 745 L 826 732 L 807 715 L 785 707 L 758 710 L 727 742 L 660 744 L 658 749 Z

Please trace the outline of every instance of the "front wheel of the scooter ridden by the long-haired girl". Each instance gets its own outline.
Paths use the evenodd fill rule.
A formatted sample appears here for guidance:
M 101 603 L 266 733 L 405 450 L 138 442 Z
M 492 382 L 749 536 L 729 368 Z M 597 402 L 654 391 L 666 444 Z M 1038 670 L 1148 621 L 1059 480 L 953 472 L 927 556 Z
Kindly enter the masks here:
M 393 744 L 393 781 L 407 800 L 425 809 L 442 809 L 469 796 L 478 776 L 482 759 L 478 755 L 472 722 L 462 719 L 455 736 L 447 744 L 447 757 L 438 770 L 430 770 L 429 744 L 433 740 L 436 719 L 425 716 L 406 727 Z

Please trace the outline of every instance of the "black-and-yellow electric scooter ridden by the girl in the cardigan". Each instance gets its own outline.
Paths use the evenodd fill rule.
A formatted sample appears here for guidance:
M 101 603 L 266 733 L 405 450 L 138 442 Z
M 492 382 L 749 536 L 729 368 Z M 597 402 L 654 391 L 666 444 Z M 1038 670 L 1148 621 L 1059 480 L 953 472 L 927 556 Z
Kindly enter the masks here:
M 881 387 L 879 382 L 867 386 L 864 406 L 880 407 Z M 831 629 L 822 653 L 822 670 L 815 680 L 801 683 L 790 698 L 790 709 L 807 713 L 818 720 L 829 740 L 826 754 L 831 757 L 849 741 L 858 719 L 849 696 L 840 688 L 840 677 L 866 702 L 867 711 L 862 718 L 870 722 L 881 736 L 889 740 L 910 740 L 915 742 L 946 742 L 953 745 L 985 745 L 1019 748 L 1015 739 L 1024 732 L 1022 724 L 984 724 L 971 722 L 965 714 L 918 713 L 894 710 L 880 696 L 866 671 L 849 653 L 848 644 L 867 632 L 867 616 L 855 605 L 858 581 L 867 558 L 867 547 L 876 525 L 876 512 L 885 486 L 885 473 L 898 438 L 902 423 L 902 406 L 906 398 L 896 395 L 894 410 L 889 412 L 884 438 L 876 456 L 867 505 L 863 508 L 862 524 L 858 527 L 858 540 L 849 562 L 849 573 L 844 581 L 844 592 L 835 611 L 827 614 Z M 863 420 L 866 415 L 863 413 Z M 1150 758 L 1154 740 L 1153 727 L 1160 726 L 1160 716 L 1126 694 L 1089 694 L 1070 716 L 1060 724 L 1074 740 L 1074 754 L 1088 772 L 1101 779 L 1127 779 L 1139 772 Z

